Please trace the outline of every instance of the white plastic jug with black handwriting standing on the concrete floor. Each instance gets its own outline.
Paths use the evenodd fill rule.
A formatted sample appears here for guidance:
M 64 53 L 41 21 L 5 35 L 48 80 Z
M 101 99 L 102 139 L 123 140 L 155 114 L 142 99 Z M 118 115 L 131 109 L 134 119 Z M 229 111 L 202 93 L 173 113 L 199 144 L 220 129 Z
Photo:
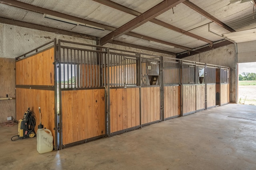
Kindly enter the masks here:
M 53 150 L 53 136 L 49 129 L 44 129 L 44 125 L 38 125 L 36 133 L 38 153 L 51 152 Z

